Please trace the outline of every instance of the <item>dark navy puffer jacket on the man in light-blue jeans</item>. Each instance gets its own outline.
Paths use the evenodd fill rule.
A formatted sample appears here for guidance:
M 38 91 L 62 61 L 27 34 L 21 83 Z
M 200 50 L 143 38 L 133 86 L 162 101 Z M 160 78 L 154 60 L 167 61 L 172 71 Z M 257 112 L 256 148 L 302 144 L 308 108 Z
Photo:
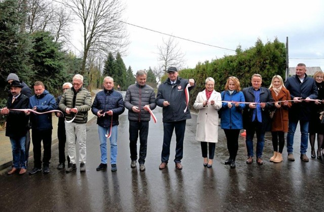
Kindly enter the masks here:
M 118 91 L 106 90 L 97 93 L 95 100 L 93 101 L 91 111 L 97 116 L 98 111 L 107 112 L 112 111 L 112 116 L 98 117 L 97 124 L 101 127 L 110 127 L 111 119 L 112 126 L 118 125 L 118 117 L 120 114 L 124 113 L 124 100 L 123 96 Z

